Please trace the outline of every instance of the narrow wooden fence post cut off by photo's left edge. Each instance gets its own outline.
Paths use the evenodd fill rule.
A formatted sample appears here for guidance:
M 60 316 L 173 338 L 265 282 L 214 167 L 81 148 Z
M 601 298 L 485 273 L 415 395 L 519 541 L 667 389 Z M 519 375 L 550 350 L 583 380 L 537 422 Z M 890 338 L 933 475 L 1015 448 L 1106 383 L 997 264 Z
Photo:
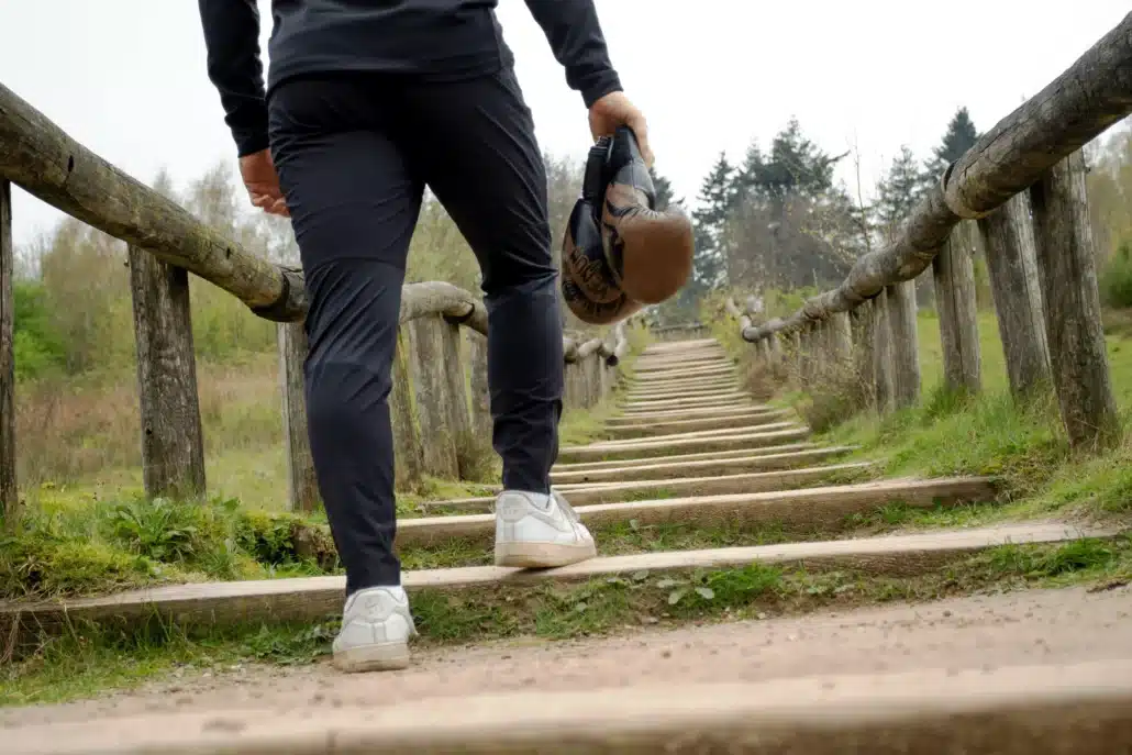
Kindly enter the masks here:
M 19 517 L 16 487 L 16 260 L 11 246 L 11 185 L 0 179 L 0 529 Z

